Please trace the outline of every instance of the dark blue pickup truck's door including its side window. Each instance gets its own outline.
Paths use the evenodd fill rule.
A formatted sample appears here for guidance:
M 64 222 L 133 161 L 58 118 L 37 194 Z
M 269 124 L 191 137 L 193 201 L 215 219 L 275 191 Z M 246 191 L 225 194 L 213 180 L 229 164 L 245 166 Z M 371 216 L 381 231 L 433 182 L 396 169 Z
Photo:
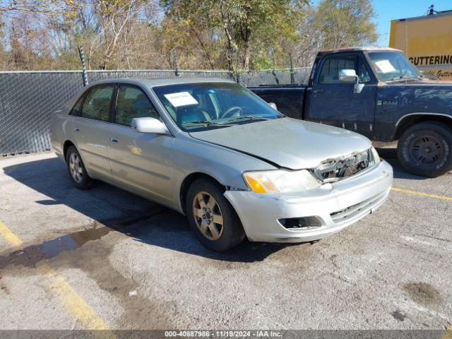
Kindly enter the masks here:
M 339 76 L 342 70 L 355 71 L 359 83 L 364 84 L 360 93 L 354 90 L 355 78 Z M 319 52 L 309 78 L 305 119 L 373 138 L 377 84 L 362 50 Z

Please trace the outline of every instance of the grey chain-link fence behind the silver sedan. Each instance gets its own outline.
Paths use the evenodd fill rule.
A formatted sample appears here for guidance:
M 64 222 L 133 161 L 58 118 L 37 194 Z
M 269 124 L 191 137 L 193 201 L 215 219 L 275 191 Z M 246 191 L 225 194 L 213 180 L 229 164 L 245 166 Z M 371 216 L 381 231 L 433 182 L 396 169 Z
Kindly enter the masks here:
M 209 77 L 244 86 L 303 84 L 309 69 L 268 71 L 88 71 L 88 83 L 106 78 Z M 82 71 L 0 72 L 0 155 L 50 149 L 52 112 L 83 87 Z

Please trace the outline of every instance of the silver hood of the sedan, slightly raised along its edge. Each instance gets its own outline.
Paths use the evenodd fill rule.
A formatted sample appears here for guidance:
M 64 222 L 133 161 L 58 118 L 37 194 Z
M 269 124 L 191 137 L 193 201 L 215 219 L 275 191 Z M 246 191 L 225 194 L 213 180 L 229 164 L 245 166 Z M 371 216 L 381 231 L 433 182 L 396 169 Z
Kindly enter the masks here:
M 202 141 L 239 150 L 289 169 L 317 167 L 371 147 L 368 138 L 332 126 L 291 118 L 191 132 Z

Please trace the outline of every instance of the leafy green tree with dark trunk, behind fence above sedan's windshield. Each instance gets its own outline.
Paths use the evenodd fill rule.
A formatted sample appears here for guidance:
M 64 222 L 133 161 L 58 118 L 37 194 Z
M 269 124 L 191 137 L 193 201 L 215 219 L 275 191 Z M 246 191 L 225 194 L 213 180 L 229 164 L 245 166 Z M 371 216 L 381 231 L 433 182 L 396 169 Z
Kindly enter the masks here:
M 227 69 L 248 70 L 266 64 L 280 43 L 297 40 L 304 0 L 162 0 L 166 20 L 183 32 L 203 32 L 204 39 L 222 42 Z M 210 37 L 206 32 L 210 32 Z M 174 36 L 174 35 L 173 35 Z M 179 34 L 181 44 L 191 35 Z M 213 44 L 215 46 L 215 44 Z M 206 46 L 206 44 L 204 44 Z M 255 59 L 254 59 L 255 58 Z M 254 62 L 255 61 L 255 62 Z

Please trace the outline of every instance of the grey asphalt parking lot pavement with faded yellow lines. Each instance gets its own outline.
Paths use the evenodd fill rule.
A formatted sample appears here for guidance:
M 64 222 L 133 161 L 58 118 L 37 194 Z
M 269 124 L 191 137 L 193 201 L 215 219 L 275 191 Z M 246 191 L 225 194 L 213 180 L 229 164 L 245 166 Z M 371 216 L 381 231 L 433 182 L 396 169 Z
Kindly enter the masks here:
M 0 160 L 0 329 L 445 329 L 452 174 L 394 167 L 388 201 L 314 244 L 204 248 L 184 216 L 52 153 Z

